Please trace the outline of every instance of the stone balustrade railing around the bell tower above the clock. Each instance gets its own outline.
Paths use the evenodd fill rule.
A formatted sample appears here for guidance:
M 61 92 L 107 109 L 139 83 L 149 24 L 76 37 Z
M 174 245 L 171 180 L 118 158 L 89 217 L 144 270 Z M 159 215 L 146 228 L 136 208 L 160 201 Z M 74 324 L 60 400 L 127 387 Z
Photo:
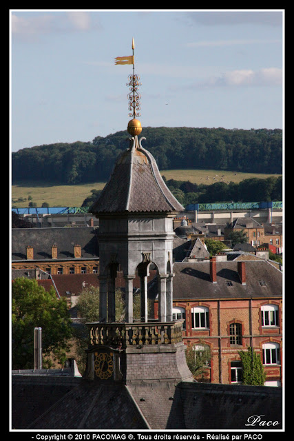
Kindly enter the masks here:
M 90 345 L 169 345 L 182 341 L 182 322 L 87 323 Z

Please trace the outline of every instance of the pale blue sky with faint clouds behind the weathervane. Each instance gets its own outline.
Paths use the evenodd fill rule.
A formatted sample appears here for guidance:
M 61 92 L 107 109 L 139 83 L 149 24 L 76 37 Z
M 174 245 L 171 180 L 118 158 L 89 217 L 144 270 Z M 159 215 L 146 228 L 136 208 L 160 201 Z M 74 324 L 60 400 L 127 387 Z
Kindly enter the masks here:
M 283 128 L 284 10 L 10 10 L 10 150 L 143 127 Z

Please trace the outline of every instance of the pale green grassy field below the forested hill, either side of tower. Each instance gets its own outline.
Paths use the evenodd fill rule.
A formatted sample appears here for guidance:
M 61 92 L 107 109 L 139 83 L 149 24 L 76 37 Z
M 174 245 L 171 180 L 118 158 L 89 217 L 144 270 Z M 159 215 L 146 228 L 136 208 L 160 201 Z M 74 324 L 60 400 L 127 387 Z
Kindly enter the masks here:
M 160 172 L 167 180 L 191 181 L 196 184 L 213 184 L 223 181 L 239 183 L 244 179 L 250 178 L 268 178 L 269 176 L 280 176 L 278 174 L 255 174 L 228 172 L 223 170 L 164 170 Z M 207 179 L 209 176 L 209 179 Z M 56 183 L 43 183 L 32 181 L 21 181 L 12 185 L 11 199 L 12 205 L 17 208 L 28 207 L 31 196 L 31 202 L 41 207 L 43 202 L 47 202 L 50 207 L 81 207 L 87 196 L 90 196 L 92 189 L 103 189 L 105 183 L 96 182 L 81 185 L 58 185 Z M 18 202 L 19 198 L 26 201 Z

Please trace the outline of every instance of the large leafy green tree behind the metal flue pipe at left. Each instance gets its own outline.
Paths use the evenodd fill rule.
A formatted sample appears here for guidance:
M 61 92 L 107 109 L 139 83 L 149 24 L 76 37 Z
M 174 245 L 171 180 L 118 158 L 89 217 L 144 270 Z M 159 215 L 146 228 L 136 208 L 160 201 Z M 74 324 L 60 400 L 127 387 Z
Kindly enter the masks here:
M 52 356 L 63 365 L 72 327 L 64 298 L 56 298 L 53 287 L 47 292 L 36 280 L 16 278 L 12 284 L 12 369 L 34 366 L 34 327 L 42 328 L 43 365 L 52 365 Z

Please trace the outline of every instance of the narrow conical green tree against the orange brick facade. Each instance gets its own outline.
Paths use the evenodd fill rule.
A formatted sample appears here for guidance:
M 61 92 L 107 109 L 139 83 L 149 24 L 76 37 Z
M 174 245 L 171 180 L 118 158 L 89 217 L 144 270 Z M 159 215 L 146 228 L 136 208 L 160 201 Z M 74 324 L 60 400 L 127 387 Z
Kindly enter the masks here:
M 247 347 L 247 351 L 239 351 L 242 362 L 242 383 L 251 386 L 263 386 L 266 373 L 262 365 L 260 355 L 253 347 Z

